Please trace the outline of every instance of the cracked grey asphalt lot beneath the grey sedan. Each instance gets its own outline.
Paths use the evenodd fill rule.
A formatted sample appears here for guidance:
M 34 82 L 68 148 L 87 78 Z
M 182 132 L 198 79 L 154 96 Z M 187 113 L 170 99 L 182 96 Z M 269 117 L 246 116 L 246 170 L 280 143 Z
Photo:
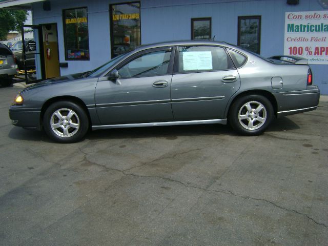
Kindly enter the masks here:
M 261 136 L 111 129 L 76 144 L 11 125 L 0 88 L 0 245 L 327 245 L 328 96 Z

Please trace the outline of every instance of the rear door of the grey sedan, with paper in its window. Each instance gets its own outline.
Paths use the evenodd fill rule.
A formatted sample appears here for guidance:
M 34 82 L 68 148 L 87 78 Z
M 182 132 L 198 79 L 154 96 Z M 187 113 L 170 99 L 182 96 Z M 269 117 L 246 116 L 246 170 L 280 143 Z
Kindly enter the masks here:
M 179 46 L 172 78 L 174 120 L 222 119 L 238 91 L 237 69 L 224 47 Z

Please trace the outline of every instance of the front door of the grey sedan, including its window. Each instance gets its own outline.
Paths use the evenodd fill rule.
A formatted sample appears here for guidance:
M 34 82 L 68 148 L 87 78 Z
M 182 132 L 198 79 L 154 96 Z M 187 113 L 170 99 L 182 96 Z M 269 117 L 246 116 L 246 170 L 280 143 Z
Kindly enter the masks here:
M 141 51 L 116 67 L 119 78 L 98 81 L 95 103 L 102 125 L 173 120 L 172 50 Z

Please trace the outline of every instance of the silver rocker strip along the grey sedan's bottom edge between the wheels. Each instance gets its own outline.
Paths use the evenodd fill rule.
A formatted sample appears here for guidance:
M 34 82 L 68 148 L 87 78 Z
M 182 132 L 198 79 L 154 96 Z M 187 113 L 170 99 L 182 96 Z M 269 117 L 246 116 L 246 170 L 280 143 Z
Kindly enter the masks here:
M 187 120 L 187 121 L 150 122 L 150 123 L 137 123 L 137 124 L 102 125 L 102 126 L 92 126 L 92 130 L 109 129 L 109 128 L 162 127 L 162 126 L 182 126 L 182 125 L 199 125 L 199 124 L 227 125 L 227 119 L 205 119 L 205 120 Z

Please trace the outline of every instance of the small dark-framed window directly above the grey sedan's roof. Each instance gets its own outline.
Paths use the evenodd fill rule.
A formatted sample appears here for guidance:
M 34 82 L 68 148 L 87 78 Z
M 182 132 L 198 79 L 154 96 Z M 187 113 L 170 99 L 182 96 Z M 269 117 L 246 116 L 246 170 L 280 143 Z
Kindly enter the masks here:
M 191 39 L 210 39 L 211 37 L 211 18 L 191 19 Z

